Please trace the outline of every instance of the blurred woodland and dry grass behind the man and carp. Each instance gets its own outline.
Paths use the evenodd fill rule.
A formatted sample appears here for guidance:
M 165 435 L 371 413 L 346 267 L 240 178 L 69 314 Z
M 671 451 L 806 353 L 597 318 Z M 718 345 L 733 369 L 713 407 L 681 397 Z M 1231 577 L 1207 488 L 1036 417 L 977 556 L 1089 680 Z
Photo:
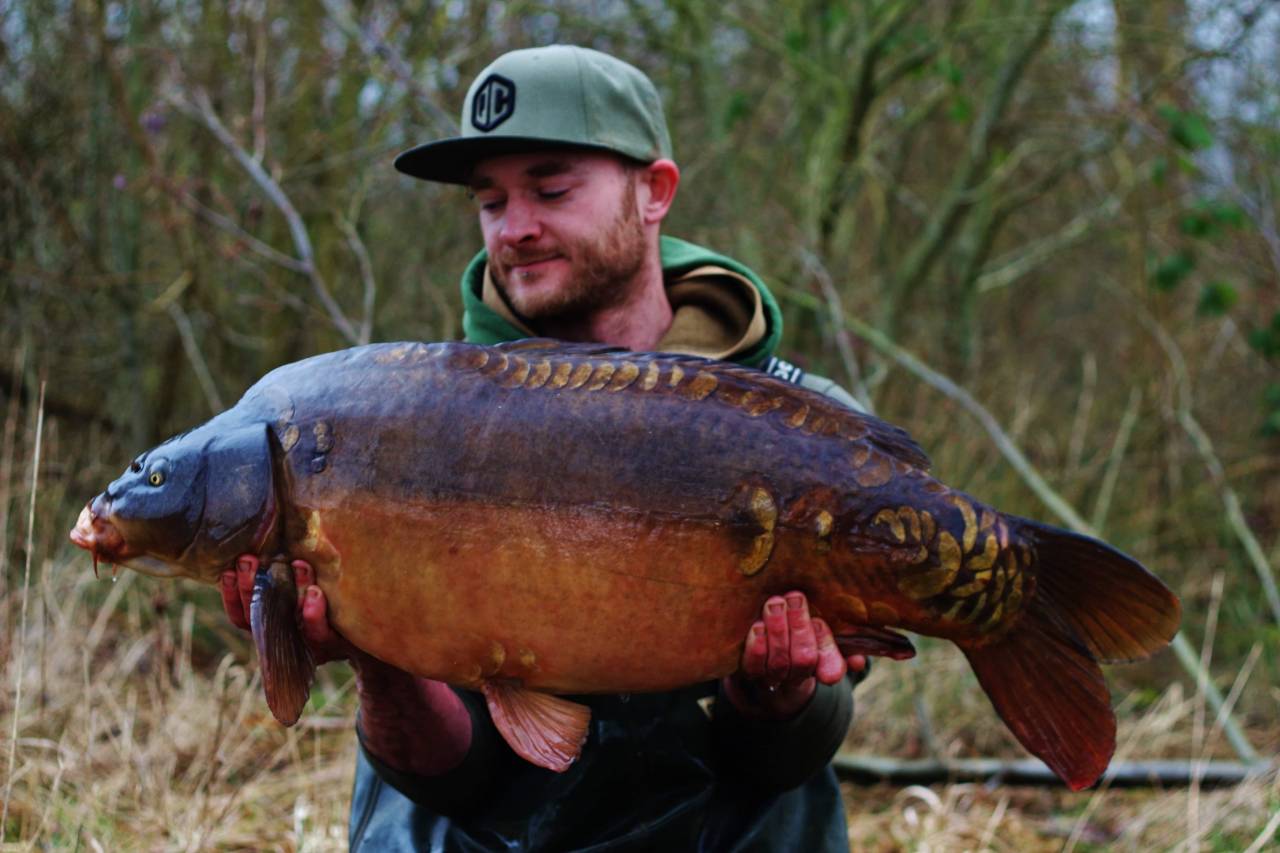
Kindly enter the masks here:
M 279 364 L 460 337 L 474 207 L 390 161 L 557 41 L 654 79 L 667 232 L 776 288 L 783 357 L 1181 596 L 1181 660 L 1108 670 L 1120 757 L 1280 751 L 1277 4 L 0 0 L 4 849 L 343 848 L 342 669 L 282 730 L 214 590 L 96 583 L 67 532 Z M 1019 757 L 922 646 L 849 749 Z M 1280 822 L 1274 772 L 846 802 L 854 849 L 1262 849 Z

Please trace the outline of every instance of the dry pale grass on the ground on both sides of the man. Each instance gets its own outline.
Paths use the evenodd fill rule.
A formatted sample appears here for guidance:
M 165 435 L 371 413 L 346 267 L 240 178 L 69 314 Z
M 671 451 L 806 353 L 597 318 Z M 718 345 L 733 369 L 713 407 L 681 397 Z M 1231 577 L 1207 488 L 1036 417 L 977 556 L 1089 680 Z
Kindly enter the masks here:
M 0 529 L 0 553 L 22 557 L 0 566 L 0 762 L 10 751 L 14 758 L 14 772 L 0 783 L 10 792 L 0 849 L 346 849 L 355 758 L 347 672 L 324 667 L 308 713 L 283 729 L 266 711 L 252 649 L 227 624 L 214 590 L 132 573 L 115 584 L 96 581 L 88 558 L 72 553 L 64 537 L 74 516 L 70 496 L 83 489 L 77 478 L 104 482 L 102 466 L 83 450 L 90 461 L 72 465 L 74 453 L 59 446 L 56 432 L 46 435 L 28 551 L 33 442 L 26 432 L 6 452 L 18 464 L 0 466 L 13 469 L 12 479 L 0 478 L 0 498 L 14 507 Z M 29 587 L 22 580 L 27 553 L 35 557 Z M 1221 599 L 1215 589 L 1210 615 L 1188 625 L 1210 638 L 1210 651 Z M 859 689 L 849 748 L 904 758 L 1020 756 L 964 658 L 947 643 L 919 646 L 916 661 L 881 662 Z M 1252 665 L 1256 658 L 1219 662 L 1229 678 L 1239 674 L 1235 685 L 1220 686 L 1239 695 L 1233 686 L 1248 685 L 1263 712 L 1243 722 L 1254 747 L 1274 756 L 1280 688 L 1267 683 L 1267 667 Z M 1203 697 L 1180 676 L 1167 653 L 1111 671 L 1117 758 L 1233 757 Z M 1221 790 L 846 785 L 845 798 L 855 850 L 1258 853 L 1274 849 L 1280 822 L 1275 772 Z

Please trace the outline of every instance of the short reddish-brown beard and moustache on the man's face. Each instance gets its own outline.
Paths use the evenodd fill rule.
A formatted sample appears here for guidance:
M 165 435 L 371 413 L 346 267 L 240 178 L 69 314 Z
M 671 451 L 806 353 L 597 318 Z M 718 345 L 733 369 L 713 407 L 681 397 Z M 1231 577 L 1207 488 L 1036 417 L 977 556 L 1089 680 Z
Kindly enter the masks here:
M 636 210 L 636 191 L 627 184 L 622 209 L 613 224 L 591 240 L 579 240 L 550 247 L 570 263 L 570 275 L 550 292 L 513 291 L 507 270 L 522 260 L 544 257 L 547 251 L 525 255 L 503 250 L 497 264 L 489 265 L 494 284 L 516 314 L 529 320 L 573 319 L 613 307 L 630 296 L 628 287 L 644 266 L 648 246 L 644 224 Z

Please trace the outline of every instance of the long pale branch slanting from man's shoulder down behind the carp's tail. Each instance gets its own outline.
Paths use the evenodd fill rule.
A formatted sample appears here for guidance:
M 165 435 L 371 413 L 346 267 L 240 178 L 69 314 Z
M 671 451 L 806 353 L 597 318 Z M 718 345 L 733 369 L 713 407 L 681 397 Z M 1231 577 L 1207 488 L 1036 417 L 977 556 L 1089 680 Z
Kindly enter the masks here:
M 813 311 L 823 310 L 823 305 L 810 293 L 782 286 L 774 286 L 774 291 Z M 844 316 L 844 323 L 854 334 L 870 343 L 882 353 L 893 359 L 893 361 L 897 361 L 910 373 L 923 379 L 927 384 L 957 402 L 961 409 L 968 411 L 979 424 L 982 424 L 992 443 L 996 444 L 1005 460 L 1014 467 L 1015 471 L 1018 471 L 1018 474 L 1023 478 L 1023 482 L 1027 483 L 1032 492 L 1034 492 L 1036 496 L 1044 502 L 1050 511 L 1059 516 L 1068 528 L 1075 530 L 1076 533 L 1097 535 L 1093 526 L 1085 521 L 1070 503 L 1055 492 L 1048 483 L 1044 482 L 1044 478 L 1039 475 L 1023 452 L 1018 450 L 1018 446 L 1009 438 L 1005 430 L 996 421 L 995 416 L 987 411 L 982 403 L 974 400 L 973 394 L 936 370 L 925 366 L 914 355 L 890 341 L 888 336 L 879 329 L 863 323 L 858 318 L 849 316 L 847 314 Z M 1225 704 L 1222 693 L 1212 683 L 1210 674 L 1201 667 L 1199 660 L 1197 658 L 1196 652 L 1192 651 L 1190 643 L 1187 642 L 1187 638 L 1180 633 L 1175 634 L 1174 639 L 1170 642 L 1170 648 L 1174 649 L 1174 654 L 1178 656 L 1178 662 L 1183 665 L 1183 669 L 1185 669 L 1192 678 L 1196 679 L 1197 688 L 1204 690 L 1204 697 L 1208 699 L 1208 703 L 1213 706 L 1213 711 L 1220 715 L 1224 713 Z M 1240 731 L 1239 725 L 1235 722 L 1235 719 L 1230 716 L 1230 713 L 1224 716 L 1222 730 L 1242 761 L 1256 762 L 1258 760 L 1257 752 L 1254 752 L 1248 738 L 1245 738 L 1244 733 Z

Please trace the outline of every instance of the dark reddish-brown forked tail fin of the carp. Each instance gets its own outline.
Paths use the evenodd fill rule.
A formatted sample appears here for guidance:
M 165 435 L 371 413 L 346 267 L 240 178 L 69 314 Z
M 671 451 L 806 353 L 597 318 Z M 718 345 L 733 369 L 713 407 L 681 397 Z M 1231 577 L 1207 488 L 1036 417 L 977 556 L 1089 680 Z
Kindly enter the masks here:
M 1160 649 L 1176 633 L 1181 607 L 1119 551 L 1011 520 L 1036 546 L 1036 592 L 1009 634 L 961 649 L 1018 740 L 1080 790 L 1097 781 L 1115 752 L 1116 720 L 1098 661 Z

